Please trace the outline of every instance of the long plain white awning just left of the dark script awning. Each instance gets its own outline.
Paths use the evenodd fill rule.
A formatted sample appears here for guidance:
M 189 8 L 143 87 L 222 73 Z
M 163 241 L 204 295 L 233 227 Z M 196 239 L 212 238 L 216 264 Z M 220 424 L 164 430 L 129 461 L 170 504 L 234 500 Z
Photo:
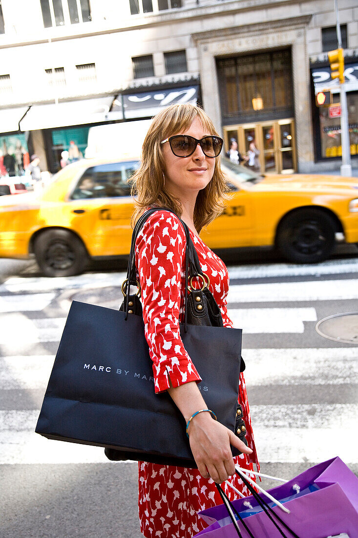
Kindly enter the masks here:
M 104 122 L 109 119 L 108 112 L 112 102 L 113 96 L 109 96 L 67 103 L 33 105 L 20 122 L 20 129 L 35 131 Z

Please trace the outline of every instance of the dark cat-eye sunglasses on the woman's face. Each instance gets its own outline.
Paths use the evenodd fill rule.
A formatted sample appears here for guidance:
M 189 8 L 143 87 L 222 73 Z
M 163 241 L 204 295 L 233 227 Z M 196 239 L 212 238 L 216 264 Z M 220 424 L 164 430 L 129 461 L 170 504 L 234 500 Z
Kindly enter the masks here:
M 188 136 L 188 134 L 176 134 L 161 141 L 161 144 L 169 142 L 170 149 L 176 157 L 190 157 L 198 144 L 206 157 L 218 157 L 224 140 L 219 136 L 204 136 L 201 140 Z

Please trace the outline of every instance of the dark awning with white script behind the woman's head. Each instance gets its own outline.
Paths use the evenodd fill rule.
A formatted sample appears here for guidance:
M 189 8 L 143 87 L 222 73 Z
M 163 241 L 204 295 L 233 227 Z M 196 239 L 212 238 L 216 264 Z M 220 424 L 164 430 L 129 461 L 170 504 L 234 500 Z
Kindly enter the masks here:
M 120 119 L 116 114 L 122 114 L 124 119 L 151 118 L 163 108 L 171 104 L 197 104 L 199 86 L 185 86 L 156 91 L 141 91 L 140 93 L 118 95 L 113 102 L 109 119 Z

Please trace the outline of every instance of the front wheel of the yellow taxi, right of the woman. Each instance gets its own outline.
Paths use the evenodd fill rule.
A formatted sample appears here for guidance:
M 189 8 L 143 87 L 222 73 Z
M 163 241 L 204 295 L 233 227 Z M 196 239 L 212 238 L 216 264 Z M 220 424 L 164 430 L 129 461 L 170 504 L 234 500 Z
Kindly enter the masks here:
M 298 264 L 313 264 L 330 256 L 336 224 L 319 209 L 300 209 L 287 215 L 277 230 L 276 244 L 282 256 Z

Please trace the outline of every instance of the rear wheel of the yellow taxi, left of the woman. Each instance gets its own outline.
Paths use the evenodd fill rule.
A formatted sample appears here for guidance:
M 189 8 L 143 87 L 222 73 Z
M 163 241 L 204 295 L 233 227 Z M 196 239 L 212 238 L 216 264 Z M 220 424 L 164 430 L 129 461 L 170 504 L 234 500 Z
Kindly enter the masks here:
M 67 230 L 45 230 L 35 239 L 36 261 L 46 277 L 71 277 L 81 273 L 88 254 L 81 241 Z

